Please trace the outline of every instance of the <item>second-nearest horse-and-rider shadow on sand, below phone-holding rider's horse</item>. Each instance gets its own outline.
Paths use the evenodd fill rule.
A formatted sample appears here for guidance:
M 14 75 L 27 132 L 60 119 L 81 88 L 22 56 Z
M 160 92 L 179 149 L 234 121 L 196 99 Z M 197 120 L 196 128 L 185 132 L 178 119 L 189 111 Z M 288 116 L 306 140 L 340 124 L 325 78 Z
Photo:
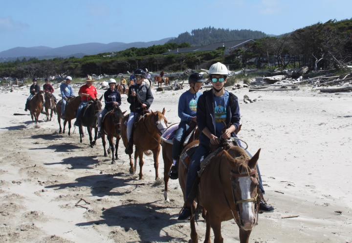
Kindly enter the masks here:
M 124 177 L 121 179 L 121 177 Z M 75 182 L 53 184 L 45 186 L 45 188 L 56 188 L 54 190 L 63 190 L 71 187 L 88 187 L 90 188 L 92 196 L 104 197 L 104 196 L 121 196 L 131 193 L 133 190 L 139 188 L 139 184 L 134 186 L 134 189 L 122 188 L 126 186 L 128 182 L 134 181 L 135 178 L 129 174 L 118 173 L 118 174 L 101 174 L 87 177 L 79 177 L 75 179 Z M 128 184 L 129 185 L 129 184 Z M 133 185 L 131 183 L 131 185 Z

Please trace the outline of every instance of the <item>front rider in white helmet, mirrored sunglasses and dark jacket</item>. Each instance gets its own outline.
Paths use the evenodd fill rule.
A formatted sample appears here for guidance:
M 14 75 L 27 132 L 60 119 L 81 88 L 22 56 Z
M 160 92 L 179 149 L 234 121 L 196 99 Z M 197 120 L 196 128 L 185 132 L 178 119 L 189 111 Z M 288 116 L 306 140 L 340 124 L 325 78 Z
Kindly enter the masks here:
M 237 137 L 235 131 L 240 125 L 240 107 L 238 98 L 224 89 L 227 81 L 228 70 L 225 65 L 216 63 L 209 68 L 209 78 L 212 81 L 213 88 L 204 91 L 198 99 L 197 106 L 197 125 L 201 134 L 199 135 L 199 146 L 193 155 L 191 164 L 188 167 L 186 178 L 186 202 L 177 221 L 183 222 L 191 218 L 191 205 L 195 195 L 190 195 L 193 184 L 197 183 L 197 172 L 199 164 L 207 155 L 210 154 L 210 145 L 217 145 L 220 143 L 220 137 L 228 139 L 230 137 Z M 221 134 L 224 127 L 223 123 L 231 124 L 229 128 Z M 259 188 L 264 194 L 262 179 L 257 164 L 259 176 Z M 190 198 L 189 198 L 190 197 Z M 266 204 L 264 199 L 260 201 L 260 211 L 273 212 L 274 207 Z

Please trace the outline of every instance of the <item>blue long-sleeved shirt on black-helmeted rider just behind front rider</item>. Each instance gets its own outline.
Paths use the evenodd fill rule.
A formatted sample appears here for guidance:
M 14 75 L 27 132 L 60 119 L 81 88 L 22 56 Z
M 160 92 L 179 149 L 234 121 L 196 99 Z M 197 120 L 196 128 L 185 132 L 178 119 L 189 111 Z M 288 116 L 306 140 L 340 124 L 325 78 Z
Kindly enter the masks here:
M 181 94 L 178 100 L 178 117 L 181 121 L 191 121 L 192 117 L 197 114 L 197 102 L 201 92 L 195 94 L 189 90 Z

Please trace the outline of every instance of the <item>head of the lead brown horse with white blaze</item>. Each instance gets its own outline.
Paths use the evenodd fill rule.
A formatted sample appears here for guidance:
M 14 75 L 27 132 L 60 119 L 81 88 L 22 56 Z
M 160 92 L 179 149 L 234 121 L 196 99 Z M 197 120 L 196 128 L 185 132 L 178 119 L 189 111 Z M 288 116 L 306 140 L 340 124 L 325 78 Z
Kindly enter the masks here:
M 260 149 L 252 158 L 238 146 L 232 146 L 223 152 L 223 158 L 231 166 L 233 200 L 239 215 L 237 224 L 243 230 L 252 230 L 258 221 L 260 202 L 256 168 Z

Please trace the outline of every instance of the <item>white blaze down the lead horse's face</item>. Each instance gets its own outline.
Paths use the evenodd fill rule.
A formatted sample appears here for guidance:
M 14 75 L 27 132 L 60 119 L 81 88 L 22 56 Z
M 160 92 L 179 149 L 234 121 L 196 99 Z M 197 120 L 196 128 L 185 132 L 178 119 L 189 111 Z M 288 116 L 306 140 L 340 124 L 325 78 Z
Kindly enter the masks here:
M 251 178 L 250 177 L 239 177 L 239 183 L 241 188 L 242 199 L 250 199 L 251 195 Z M 246 201 L 240 203 L 239 207 L 242 207 L 241 220 L 243 222 L 243 229 L 250 230 L 255 224 L 255 215 L 253 214 L 254 202 Z

